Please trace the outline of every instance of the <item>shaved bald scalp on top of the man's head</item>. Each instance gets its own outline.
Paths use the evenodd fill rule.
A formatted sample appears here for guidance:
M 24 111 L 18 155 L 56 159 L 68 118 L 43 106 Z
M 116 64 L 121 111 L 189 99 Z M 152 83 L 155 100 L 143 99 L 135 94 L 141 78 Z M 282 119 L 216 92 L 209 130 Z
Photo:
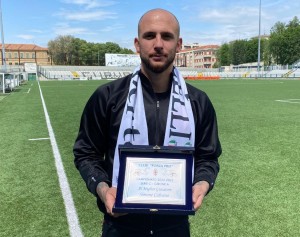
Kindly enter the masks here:
M 178 19 L 176 18 L 176 16 L 173 13 L 171 13 L 167 10 L 164 10 L 164 9 L 160 9 L 160 8 L 149 10 L 144 15 L 142 15 L 142 17 L 139 20 L 139 24 L 138 24 L 138 35 L 140 36 L 141 27 L 143 25 L 142 23 L 144 20 L 157 19 L 159 21 L 160 19 L 163 19 L 163 18 L 168 19 L 170 25 L 171 24 L 175 25 L 177 37 L 179 37 L 180 25 L 179 25 Z

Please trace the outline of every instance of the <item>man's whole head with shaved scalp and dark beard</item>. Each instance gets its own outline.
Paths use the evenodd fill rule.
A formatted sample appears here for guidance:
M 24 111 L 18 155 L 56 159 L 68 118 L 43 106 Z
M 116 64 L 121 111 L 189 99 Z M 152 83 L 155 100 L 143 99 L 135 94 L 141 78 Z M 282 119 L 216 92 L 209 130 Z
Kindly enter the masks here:
M 171 70 L 182 44 L 176 19 L 164 11 L 146 14 L 140 21 L 139 37 L 134 43 L 145 70 L 154 73 Z

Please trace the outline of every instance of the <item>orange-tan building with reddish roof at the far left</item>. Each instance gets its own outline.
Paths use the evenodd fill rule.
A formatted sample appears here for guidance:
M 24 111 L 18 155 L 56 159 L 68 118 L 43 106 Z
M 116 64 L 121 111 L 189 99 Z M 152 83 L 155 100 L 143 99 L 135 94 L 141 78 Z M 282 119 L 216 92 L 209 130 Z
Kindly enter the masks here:
M 2 50 L 2 44 L 0 47 Z M 24 65 L 24 63 L 51 65 L 48 48 L 35 44 L 5 44 L 5 59 L 6 65 Z M 0 54 L 0 65 L 3 65 L 2 53 Z

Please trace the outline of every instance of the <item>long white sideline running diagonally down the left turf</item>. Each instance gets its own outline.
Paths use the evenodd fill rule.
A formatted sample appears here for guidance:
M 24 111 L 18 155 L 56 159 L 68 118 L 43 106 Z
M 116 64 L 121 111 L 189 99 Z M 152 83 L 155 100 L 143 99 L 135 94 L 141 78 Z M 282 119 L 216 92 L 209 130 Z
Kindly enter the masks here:
M 62 197 L 64 200 L 65 208 L 66 208 L 66 215 L 67 215 L 67 220 L 68 220 L 68 224 L 69 224 L 70 236 L 71 237 L 83 237 L 83 233 L 80 228 L 80 224 L 79 224 L 76 208 L 74 205 L 71 189 L 70 189 L 70 186 L 68 183 L 68 179 L 67 179 L 67 176 L 66 176 L 66 173 L 64 170 L 62 160 L 61 160 L 61 155 L 58 150 L 58 146 L 57 146 L 56 139 L 55 139 L 55 134 L 54 134 L 51 122 L 50 122 L 49 114 L 47 111 L 47 107 L 45 104 L 45 100 L 43 97 L 43 93 L 42 93 L 42 89 L 41 89 L 39 81 L 38 81 L 38 85 L 39 85 L 41 100 L 42 100 L 43 109 L 44 109 L 44 113 L 45 113 L 50 142 L 52 145 L 52 151 L 53 151 L 53 155 L 54 155 L 54 159 L 55 159 L 55 166 L 56 166 L 56 170 L 57 170 L 59 186 L 60 186 L 60 190 L 61 190 Z

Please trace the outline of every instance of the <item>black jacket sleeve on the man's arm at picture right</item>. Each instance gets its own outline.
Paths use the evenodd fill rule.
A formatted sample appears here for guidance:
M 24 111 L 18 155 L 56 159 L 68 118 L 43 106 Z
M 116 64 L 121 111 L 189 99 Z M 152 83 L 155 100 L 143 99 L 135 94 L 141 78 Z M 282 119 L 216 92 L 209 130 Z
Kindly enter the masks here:
M 209 191 L 211 191 L 220 169 L 218 157 L 222 153 L 222 148 L 214 107 L 206 95 L 200 100 L 195 103 L 194 184 L 203 180 L 207 181 Z

